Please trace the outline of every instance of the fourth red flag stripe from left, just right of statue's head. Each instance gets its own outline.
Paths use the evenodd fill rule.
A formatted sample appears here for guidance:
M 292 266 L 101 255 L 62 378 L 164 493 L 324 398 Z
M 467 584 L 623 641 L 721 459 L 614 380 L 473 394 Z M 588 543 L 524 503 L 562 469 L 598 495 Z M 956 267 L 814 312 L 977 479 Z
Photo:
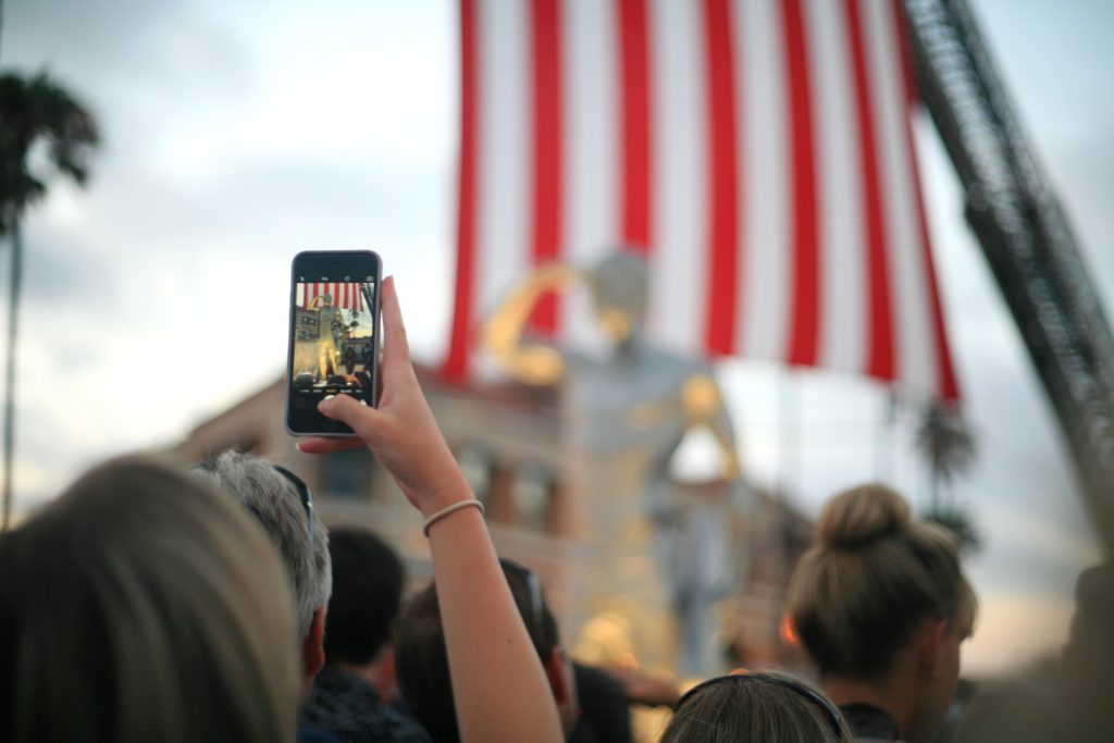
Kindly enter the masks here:
M 727 0 L 705 0 L 707 39 L 709 150 L 711 186 L 711 261 L 706 346 L 711 353 L 732 352 L 735 336 L 737 224 L 737 149 L 735 82 Z

